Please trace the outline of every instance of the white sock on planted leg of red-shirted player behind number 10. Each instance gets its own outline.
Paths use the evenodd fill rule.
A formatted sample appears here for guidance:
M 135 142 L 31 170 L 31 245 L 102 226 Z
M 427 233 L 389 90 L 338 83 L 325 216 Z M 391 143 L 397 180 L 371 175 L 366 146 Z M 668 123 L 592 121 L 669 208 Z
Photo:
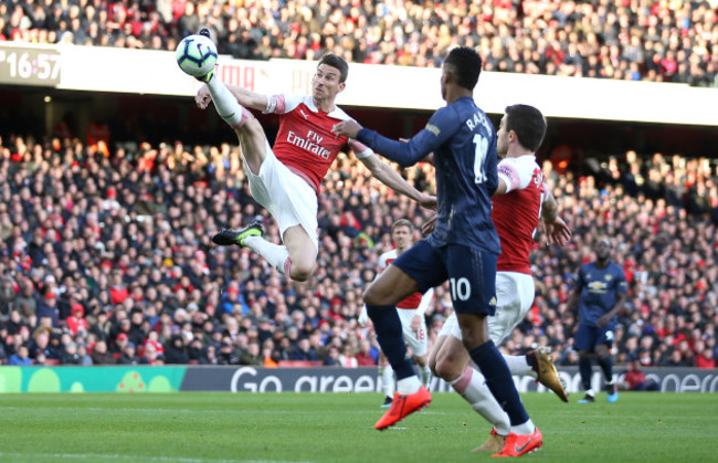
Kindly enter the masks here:
M 484 375 L 472 367 L 466 367 L 464 375 L 460 376 L 448 385 L 454 388 L 472 408 L 489 423 L 494 425 L 500 435 L 508 435 L 510 421 L 508 414 L 498 404 L 496 398 L 486 386 Z

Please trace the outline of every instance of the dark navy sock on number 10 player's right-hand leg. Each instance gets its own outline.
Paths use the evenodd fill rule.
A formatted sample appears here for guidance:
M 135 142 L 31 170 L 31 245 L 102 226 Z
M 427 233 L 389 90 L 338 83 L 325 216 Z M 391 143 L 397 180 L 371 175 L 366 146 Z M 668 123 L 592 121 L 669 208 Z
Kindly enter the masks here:
M 499 354 L 494 341 L 484 343 L 468 354 L 486 377 L 486 386 L 508 413 L 511 425 L 527 422 L 528 414 L 524 409 L 521 399 L 518 397 L 511 372 L 508 370 L 508 365 L 506 365 L 506 360 Z

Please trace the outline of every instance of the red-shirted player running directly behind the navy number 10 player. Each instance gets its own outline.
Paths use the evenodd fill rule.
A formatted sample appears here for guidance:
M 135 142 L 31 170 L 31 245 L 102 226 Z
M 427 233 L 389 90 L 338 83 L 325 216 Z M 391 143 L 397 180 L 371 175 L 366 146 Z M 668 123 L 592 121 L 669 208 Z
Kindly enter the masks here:
M 564 244 L 571 231 L 558 217 L 558 206 L 543 181 L 534 151 L 546 133 L 541 113 L 527 105 L 514 105 L 497 133 L 499 186 L 492 198 L 492 219 L 501 243 L 496 264 L 496 314 L 488 317 L 490 338 L 498 345 L 526 316 L 534 304 L 534 278 L 529 254 L 534 233 L 542 218 L 549 242 Z M 452 315 L 442 327 L 430 355 L 434 373 L 450 383 L 472 408 L 494 425 L 488 440 L 475 451 L 497 452 L 510 433 L 509 418 L 486 386 L 484 376 L 468 362 L 462 333 Z M 531 375 L 563 401 L 568 393 L 545 348 L 527 356 L 504 356 L 515 375 Z

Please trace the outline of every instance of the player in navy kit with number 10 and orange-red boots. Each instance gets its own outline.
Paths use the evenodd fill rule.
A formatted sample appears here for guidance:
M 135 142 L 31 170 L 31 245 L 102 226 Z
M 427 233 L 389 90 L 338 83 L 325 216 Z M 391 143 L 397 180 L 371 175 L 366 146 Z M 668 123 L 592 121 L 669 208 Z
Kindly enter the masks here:
M 374 428 L 387 429 L 431 403 L 431 394 L 405 360 L 394 307 L 416 291 L 448 281 L 464 347 L 510 418 L 511 433 L 496 456 L 518 456 L 540 448 L 543 439 L 488 334 L 486 318 L 496 312 L 500 243 L 490 218 L 490 196 L 498 187 L 496 131 L 474 101 L 481 69 L 482 59 L 475 50 L 453 49 L 444 59 L 440 80 L 446 106 L 406 143 L 391 140 L 355 120 L 342 120 L 334 131 L 356 137 L 402 166 L 412 166 L 433 152 L 436 173 L 434 231 L 401 254 L 363 293 L 381 349 L 398 378 L 391 408 Z

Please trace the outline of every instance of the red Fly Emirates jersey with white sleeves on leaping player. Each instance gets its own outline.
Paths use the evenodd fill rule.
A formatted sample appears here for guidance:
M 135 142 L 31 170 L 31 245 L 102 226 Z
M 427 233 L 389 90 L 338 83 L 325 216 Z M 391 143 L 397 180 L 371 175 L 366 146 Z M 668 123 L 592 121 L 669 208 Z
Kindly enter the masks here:
M 317 109 L 312 96 L 274 95 L 274 98 L 276 107 L 273 113 L 281 115 L 274 155 L 317 193 L 327 170 L 347 145 L 358 158 L 373 152 L 359 141 L 331 133 L 335 124 L 350 119 L 339 107 L 325 113 Z

